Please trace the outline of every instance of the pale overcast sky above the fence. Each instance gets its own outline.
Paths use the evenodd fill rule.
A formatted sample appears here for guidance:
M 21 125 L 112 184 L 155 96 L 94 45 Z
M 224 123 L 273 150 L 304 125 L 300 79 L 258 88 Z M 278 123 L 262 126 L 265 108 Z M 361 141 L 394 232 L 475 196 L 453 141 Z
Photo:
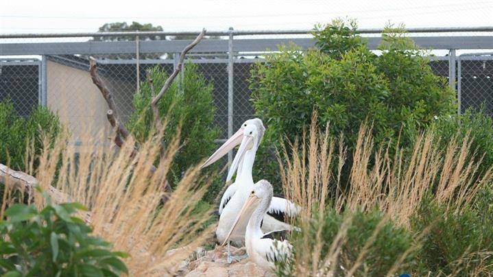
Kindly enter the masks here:
M 167 31 L 310 29 L 336 17 L 359 27 L 493 25 L 493 0 L 0 0 L 0 33 L 95 32 L 104 23 L 138 21 Z

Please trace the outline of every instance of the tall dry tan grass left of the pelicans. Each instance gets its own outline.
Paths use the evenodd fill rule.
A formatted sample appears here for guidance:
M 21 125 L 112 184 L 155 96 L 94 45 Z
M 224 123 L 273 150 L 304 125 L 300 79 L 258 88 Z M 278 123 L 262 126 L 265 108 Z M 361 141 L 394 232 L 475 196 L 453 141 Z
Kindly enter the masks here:
M 160 153 L 163 132 L 139 145 L 139 154 L 133 157 L 132 141 L 121 149 L 115 149 L 108 139 L 101 143 L 104 138 L 83 139 L 75 146 L 68 132 L 63 132 L 52 147 L 45 141 L 39 167 L 30 172 L 43 190 L 51 184 L 68 195 L 62 201 L 80 202 L 88 208 L 81 216 L 94 234 L 110 241 L 114 250 L 130 254 L 125 264 L 131 276 L 172 275 L 178 263 L 204 245 L 215 229 L 206 226 L 213 210 L 196 208 L 207 189 L 198 166 L 184 173 L 172 193 L 164 192 L 167 172 L 180 148 L 180 132 Z M 27 171 L 32 171 L 34 157 L 26 159 Z M 45 205 L 39 193 L 32 202 Z

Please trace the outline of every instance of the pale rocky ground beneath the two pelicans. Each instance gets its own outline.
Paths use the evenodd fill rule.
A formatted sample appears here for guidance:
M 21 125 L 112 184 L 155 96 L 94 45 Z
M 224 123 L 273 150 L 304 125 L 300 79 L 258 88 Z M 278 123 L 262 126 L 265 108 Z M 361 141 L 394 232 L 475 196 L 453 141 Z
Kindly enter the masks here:
M 244 248 L 231 247 L 233 255 L 245 254 Z M 228 263 L 226 261 L 226 250 L 216 248 L 215 250 L 199 250 L 194 261 L 183 261 L 176 276 L 180 277 L 243 277 L 260 276 L 274 277 L 272 271 L 258 267 L 255 263 L 245 258 L 239 262 Z

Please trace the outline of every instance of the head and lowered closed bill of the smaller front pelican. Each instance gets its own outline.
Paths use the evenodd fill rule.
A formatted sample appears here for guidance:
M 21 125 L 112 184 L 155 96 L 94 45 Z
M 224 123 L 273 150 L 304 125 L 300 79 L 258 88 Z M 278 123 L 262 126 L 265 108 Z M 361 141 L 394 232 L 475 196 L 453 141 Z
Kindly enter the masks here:
M 250 221 L 250 217 L 252 217 L 254 210 L 256 210 L 259 205 L 261 206 L 261 209 L 265 209 L 262 210 L 263 213 L 267 212 L 267 208 L 269 208 L 270 202 L 272 201 L 272 195 L 274 195 L 272 184 L 270 184 L 266 180 L 260 180 L 256 182 L 256 184 L 254 184 L 252 188 L 252 191 L 250 191 L 247 200 L 245 200 L 245 204 L 243 204 L 243 207 L 241 207 L 241 210 L 237 215 L 235 222 L 233 222 L 231 229 L 228 232 L 228 235 L 226 236 L 226 239 L 224 240 L 224 243 L 222 245 L 228 243 L 231 234 L 235 232 L 237 226 L 239 226 L 239 222 L 245 223 Z M 258 222 L 258 224 L 260 224 L 260 222 Z

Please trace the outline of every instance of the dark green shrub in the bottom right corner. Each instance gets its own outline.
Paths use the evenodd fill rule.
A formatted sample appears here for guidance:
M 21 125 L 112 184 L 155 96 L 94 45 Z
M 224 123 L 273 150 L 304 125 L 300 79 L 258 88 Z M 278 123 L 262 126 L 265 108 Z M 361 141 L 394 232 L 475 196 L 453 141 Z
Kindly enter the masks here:
M 491 215 L 471 207 L 455 211 L 425 202 L 411 224 L 424 234 L 418 253 L 420 275 L 478 276 L 491 271 Z

